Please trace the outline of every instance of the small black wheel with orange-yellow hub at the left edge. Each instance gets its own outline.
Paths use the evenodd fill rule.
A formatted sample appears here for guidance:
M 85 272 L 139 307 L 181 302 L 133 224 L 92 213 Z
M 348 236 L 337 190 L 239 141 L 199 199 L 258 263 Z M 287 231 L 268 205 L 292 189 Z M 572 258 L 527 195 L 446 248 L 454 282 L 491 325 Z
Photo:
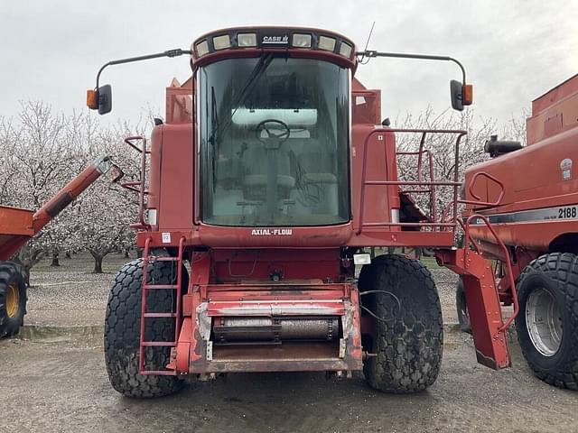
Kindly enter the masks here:
M 15 336 L 26 314 L 26 286 L 16 263 L 0 263 L 0 337 Z

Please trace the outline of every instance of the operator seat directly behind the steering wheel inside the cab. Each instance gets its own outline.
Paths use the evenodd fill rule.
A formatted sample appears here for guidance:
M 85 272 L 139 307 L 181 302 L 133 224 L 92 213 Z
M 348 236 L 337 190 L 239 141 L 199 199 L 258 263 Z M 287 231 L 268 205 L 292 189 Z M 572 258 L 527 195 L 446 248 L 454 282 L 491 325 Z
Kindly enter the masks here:
M 288 198 L 289 191 L 294 188 L 295 179 L 291 176 L 291 161 L 283 145 L 275 152 L 277 164 L 278 198 Z M 243 191 L 245 198 L 250 200 L 265 200 L 267 187 L 268 159 L 262 143 L 249 144 L 243 153 Z

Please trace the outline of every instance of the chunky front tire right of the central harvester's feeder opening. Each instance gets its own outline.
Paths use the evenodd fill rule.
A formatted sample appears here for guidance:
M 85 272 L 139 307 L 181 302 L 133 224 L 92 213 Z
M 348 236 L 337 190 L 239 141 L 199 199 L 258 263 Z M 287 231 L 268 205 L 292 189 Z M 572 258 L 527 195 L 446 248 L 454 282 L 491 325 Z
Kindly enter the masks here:
M 432 274 L 404 256 L 377 259 L 364 266 L 359 291 L 391 295 L 361 297 L 362 305 L 381 318 L 374 319 L 373 335 L 363 338 L 364 348 L 377 355 L 364 364 L 366 380 L 383 392 L 422 392 L 435 382 L 443 355 L 442 308 Z

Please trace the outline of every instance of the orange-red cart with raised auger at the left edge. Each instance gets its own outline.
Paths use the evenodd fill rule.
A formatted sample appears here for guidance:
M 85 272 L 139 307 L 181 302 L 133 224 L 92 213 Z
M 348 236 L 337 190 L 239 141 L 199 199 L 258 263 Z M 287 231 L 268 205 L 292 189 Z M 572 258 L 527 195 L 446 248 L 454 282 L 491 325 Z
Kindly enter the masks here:
M 0 338 L 18 334 L 26 314 L 26 286 L 21 266 L 7 261 L 74 198 L 109 170 L 113 181 L 122 177 L 122 171 L 109 157 L 99 158 L 35 213 L 0 206 Z

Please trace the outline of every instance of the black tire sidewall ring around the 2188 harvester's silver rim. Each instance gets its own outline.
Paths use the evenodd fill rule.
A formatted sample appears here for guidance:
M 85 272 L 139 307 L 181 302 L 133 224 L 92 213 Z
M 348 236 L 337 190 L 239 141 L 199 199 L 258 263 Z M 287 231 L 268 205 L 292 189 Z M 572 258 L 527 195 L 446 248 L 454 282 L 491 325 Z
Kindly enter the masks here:
M 570 323 L 571 318 L 568 317 L 567 309 L 564 309 L 564 292 L 560 290 L 560 282 L 555 281 L 548 276 L 548 273 L 550 272 L 540 272 L 532 269 L 519 282 L 517 288 L 519 313 L 516 318 L 516 329 L 519 345 L 522 349 L 522 352 L 524 352 L 524 355 L 526 355 L 528 363 L 535 364 L 537 368 L 545 372 L 556 372 L 560 367 L 560 363 L 564 362 L 564 357 L 567 351 L 572 350 L 572 347 L 567 347 L 571 339 L 567 337 L 567 332 L 563 332 L 560 347 L 558 348 L 558 351 L 555 353 L 555 355 L 542 355 L 536 349 L 536 346 L 530 338 L 527 329 L 526 318 L 527 300 L 529 299 L 530 295 L 535 290 L 544 289 L 548 291 L 555 299 L 558 310 L 560 311 L 560 315 L 562 317 L 563 329 L 572 329 Z

